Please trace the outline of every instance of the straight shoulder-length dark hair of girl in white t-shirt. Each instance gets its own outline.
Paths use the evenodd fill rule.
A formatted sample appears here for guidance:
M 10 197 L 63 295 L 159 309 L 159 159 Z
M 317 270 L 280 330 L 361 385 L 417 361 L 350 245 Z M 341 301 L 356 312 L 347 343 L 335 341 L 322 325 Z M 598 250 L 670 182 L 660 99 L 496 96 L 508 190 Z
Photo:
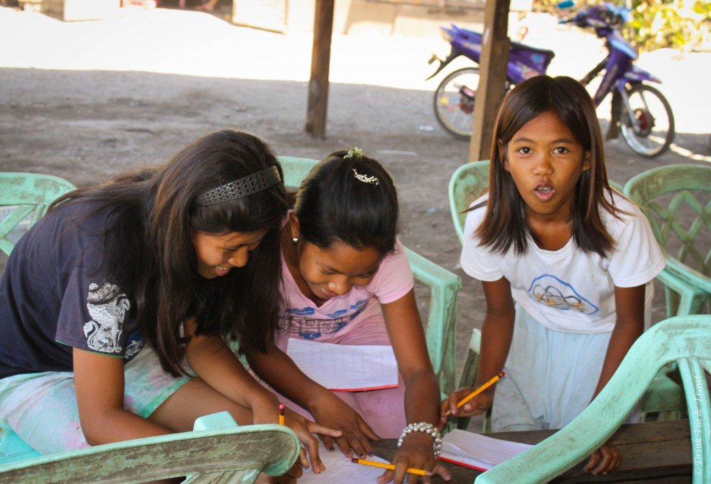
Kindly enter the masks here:
M 613 249 L 614 240 L 602 222 L 600 210 L 602 208 L 614 216 L 618 216 L 619 210 L 614 205 L 607 182 L 595 106 L 585 88 L 571 77 L 531 77 L 504 98 L 491 140 L 486 215 L 476 235 L 481 238 L 481 245 L 488 245 L 495 252 L 508 252 L 512 245 L 518 254 L 527 251 L 526 235 L 530 230 L 525 203 L 511 174 L 506 171 L 506 146 L 524 124 L 546 112 L 560 117 L 589 154 L 590 169 L 582 172 L 575 185 L 571 207 L 573 239 L 583 252 L 597 252 L 605 257 Z

